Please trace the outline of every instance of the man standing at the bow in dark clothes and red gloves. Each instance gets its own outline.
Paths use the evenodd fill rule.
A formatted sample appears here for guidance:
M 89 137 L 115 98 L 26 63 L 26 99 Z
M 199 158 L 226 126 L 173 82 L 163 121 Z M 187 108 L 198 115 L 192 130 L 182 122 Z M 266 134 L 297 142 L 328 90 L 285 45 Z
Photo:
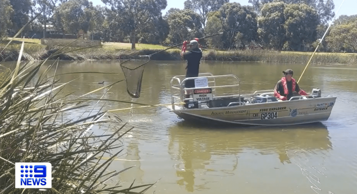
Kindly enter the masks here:
M 183 42 L 181 57 L 187 60 L 186 78 L 198 77 L 198 69 L 202 58 L 202 50 L 199 48 L 198 39 Z M 185 88 L 195 88 L 195 80 L 185 81 Z M 186 90 L 185 98 L 190 98 L 190 94 L 192 94 L 192 90 Z M 188 108 L 188 100 L 185 100 L 185 103 L 184 106 Z M 198 103 L 194 103 L 193 108 L 198 108 Z

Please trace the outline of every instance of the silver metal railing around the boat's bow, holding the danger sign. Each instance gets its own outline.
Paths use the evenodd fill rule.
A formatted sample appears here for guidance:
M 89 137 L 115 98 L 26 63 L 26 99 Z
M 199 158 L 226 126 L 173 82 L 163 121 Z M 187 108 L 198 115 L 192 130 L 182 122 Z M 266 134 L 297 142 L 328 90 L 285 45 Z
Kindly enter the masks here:
M 183 78 L 183 80 L 181 79 Z M 196 78 L 207 78 L 207 86 L 205 87 L 195 87 L 195 88 L 185 88 L 185 81 L 187 80 L 195 80 Z M 232 84 L 221 84 L 217 85 L 216 79 L 229 79 L 233 78 Z M 175 83 L 174 83 L 175 82 Z M 175 109 L 174 104 L 176 101 L 193 101 L 193 94 L 191 94 L 190 98 L 185 98 L 184 94 L 186 90 L 195 90 L 195 89 L 211 89 L 212 91 L 212 99 L 217 99 L 217 98 L 231 98 L 231 97 L 240 97 L 240 89 L 239 89 L 239 79 L 235 75 L 213 75 L 211 73 L 202 73 L 198 74 L 198 77 L 192 77 L 192 78 L 186 78 L 185 75 L 179 75 L 179 76 L 174 76 L 171 81 L 170 81 L 170 90 L 171 90 L 171 104 L 172 104 L 172 109 Z M 217 90 L 219 88 L 234 88 L 233 94 L 230 95 L 217 95 Z M 239 98 L 240 100 L 240 98 Z M 200 100 L 198 103 L 206 103 L 207 101 L 210 100 Z

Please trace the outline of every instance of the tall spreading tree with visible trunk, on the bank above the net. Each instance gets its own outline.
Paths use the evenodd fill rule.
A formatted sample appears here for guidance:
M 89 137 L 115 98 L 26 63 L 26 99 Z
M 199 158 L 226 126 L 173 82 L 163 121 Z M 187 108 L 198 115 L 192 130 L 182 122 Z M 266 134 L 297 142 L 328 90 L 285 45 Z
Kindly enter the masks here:
M 136 36 L 151 23 L 158 21 L 161 11 L 167 6 L 166 0 L 102 0 L 116 12 L 122 33 L 129 35 L 131 49 L 135 49 Z

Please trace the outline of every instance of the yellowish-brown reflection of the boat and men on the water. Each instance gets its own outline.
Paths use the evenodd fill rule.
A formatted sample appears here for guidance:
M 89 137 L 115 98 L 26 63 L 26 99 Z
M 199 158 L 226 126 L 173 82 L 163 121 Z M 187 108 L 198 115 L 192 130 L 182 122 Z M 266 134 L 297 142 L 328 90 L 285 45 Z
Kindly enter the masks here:
M 240 154 L 257 150 L 261 155 L 273 154 L 282 164 L 290 164 L 291 158 L 303 154 L 325 154 L 332 149 L 328 130 L 323 124 L 301 125 L 289 129 L 269 127 L 265 129 L 235 130 L 200 128 L 192 129 L 192 123 L 180 122 L 169 128 L 169 153 L 178 153 L 182 163 L 177 165 L 177 184 L 185 185 L 192 192 L 195 171 L 204 170 L 207 175 L 234 175 L 239 165 Z M 311 130 L 313 128 L 313 130 Z M 204 132 L 203 132 L 204 131 Z M 178 146 L 175 148 L 175 144 Z M 210 169 L 210 160 L 215 156 L 234 156 L 235 162 L 225 165 L 220 173 Z M 257 164 L 262 165 L 257 161 Z M 200 187 L 202 185 L 196 185 Z

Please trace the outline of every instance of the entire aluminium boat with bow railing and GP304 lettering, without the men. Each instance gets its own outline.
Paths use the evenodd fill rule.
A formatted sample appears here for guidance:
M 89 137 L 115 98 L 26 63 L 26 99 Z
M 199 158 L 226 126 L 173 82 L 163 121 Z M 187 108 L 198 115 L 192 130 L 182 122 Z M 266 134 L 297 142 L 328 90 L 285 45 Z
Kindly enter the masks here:
M 185 88 L 185 81 L 190 79 L 195 80 L 195 88 Z M 171 105 L 167 106 L 170 111 L 178 118 L 214 124 L 273 126 L 326 121 L 337 98 L 329 95 L 322 97 L 318 88 L 314 88 L 311 95 L 297 95 L 286 101 L 278 101 L 272 89 L 242 95 L 240 80 L 235 75 L 202 73 L 195 78 L 179 75 L 174 76 L 170 84 Z M 222 88 L 231 88 L 231 93 L 227 94 Z M 184 98 L 185 90 L 191 91 L 190 98 Z M 186 108 L 175 105 L 184 101 L 195 106 Z

